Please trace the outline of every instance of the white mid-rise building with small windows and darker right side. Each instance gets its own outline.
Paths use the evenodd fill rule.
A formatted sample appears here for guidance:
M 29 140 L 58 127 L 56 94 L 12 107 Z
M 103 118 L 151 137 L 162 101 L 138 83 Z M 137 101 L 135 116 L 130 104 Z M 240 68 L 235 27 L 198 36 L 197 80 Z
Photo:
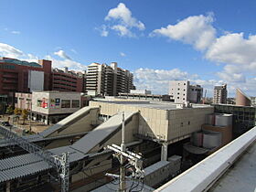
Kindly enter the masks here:
M 203 88 L 200 85 L 190 85 L 188 80 L 171 80 L 169 86 L 169 95 L 177 103 L 198 103 L 202 99 Z

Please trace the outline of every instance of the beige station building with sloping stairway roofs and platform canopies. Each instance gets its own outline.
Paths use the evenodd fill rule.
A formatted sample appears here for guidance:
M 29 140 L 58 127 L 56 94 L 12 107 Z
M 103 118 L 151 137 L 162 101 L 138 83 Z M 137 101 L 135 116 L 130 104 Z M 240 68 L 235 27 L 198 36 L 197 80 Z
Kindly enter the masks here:
M 91 101 L 42 133 L 18 138 L 1 127 L 0 191 L 100 187 L 111 181 L 106 172 L 118 173 L 119 162 L 106 147 L 121 144 L 123 112 L 126 147 L 140 153 L 148 166 L 174 155 L 168 146 L 200 131 L 213 111 L 200 104 Z

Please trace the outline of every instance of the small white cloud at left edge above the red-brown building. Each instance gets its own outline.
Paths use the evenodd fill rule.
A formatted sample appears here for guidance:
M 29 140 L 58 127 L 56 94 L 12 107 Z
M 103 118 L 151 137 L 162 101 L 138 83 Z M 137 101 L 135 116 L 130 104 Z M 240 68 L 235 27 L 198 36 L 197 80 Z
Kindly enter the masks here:
M 0 43 L 0 55 L 5 58 L 21 58 L 25 54 L 17 48 L 14 48 L 5 43 Z

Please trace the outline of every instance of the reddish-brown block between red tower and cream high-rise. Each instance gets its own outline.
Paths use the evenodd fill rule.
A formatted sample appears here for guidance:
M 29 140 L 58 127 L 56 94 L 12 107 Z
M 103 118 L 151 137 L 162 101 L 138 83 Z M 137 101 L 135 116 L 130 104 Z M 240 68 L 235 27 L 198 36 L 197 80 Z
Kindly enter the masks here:
M 52 91 L 84 92 L 85 73 L 69 70 L 67 67 L 51 70 Z

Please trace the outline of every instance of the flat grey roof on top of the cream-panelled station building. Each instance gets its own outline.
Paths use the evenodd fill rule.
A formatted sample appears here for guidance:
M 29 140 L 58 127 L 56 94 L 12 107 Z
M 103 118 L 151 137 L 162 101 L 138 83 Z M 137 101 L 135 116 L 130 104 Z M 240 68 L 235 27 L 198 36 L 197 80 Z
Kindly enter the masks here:
M 125 104 L 125 105 L 132 105 L 136 107 L 144 107 L 144 108 L 153 108 L 159 110 L 178 110 L 181 109 L 179 106 L 180 104 L 176 104 L 174 102 L 161 102 L 161 101 L 110 101 L 105 99 L 94 99 L 94 101 L 101 101 L 101 102 L 108 102 L 113 104 Z M 191 108 L 208 108 L 210 105 L 206 104 L 192 104 Z M 187 108 L 189 109 L 189 108 Z

